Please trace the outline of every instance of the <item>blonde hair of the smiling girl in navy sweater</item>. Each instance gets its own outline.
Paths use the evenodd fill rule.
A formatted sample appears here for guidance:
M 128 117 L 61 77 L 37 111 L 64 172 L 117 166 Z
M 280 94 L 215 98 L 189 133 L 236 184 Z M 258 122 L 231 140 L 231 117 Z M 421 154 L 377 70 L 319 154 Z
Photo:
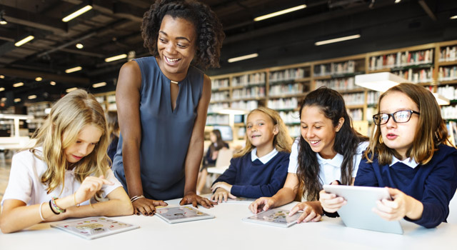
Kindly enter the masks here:
M 261 106 L 249 112 L 248 117 L 253 112 L 262 112 L 263 114 L 266 114 L 268 117 L 270 117 L 271 122 L 273 122 L 273 125 L 278 126 L 278 134 L 274 136 L 273 146 L 279 152 L 290 153 L 293 141 L 291 136 L 288 135 L 288 129 L 286 127 L 286 124 L 284 124 L 283 119 L 281 119 L 281 116 L 279 116 L 278 112 L 274 111 L 273 109 L 268 109 L 264 106 Z M 248 135 L 246 134 L 246 146 L 243 150 L 235 154 L 233 157 L 241 157 L 251 152 L 254 148 L 255 146 L 251 144 L 251 141 L 248 140 Z

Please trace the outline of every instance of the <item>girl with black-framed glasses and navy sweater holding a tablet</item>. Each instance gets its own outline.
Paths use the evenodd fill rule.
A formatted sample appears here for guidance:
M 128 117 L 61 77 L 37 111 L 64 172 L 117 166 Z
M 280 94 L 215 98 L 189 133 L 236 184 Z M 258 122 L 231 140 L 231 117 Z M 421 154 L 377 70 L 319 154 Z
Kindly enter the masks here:
M 421 86 L 400 84 L 380 96 L 378 107 L 354 185 L 388 187 L 393 200 L 378 201 L 373 209 L 383 219 L 438 226 L 446 221 L 456 193 L 457 150 L 445 145 L 448 131 L 435 98 Z M 345 202 L 321 194 L 326 211 Z

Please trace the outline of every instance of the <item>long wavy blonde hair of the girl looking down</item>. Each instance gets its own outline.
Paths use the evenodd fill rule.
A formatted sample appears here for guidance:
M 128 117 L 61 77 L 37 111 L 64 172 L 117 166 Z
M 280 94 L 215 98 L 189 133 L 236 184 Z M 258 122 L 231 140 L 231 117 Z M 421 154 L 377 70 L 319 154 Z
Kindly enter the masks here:
M 75 164 L 66 161 L 65 149 L 75 143 L 79 132 L 86 125 L 96 126 L 102 135 L 91 154 Z M 98 101 L 82 89 L 71 91 L 57 101 L 51 108 L 51 113 L 33 138 L 36 144 L 31 150 L 35 156 L 44 161 L 48 169 L 41 176 L 41 183 L 46 184 L 49 194 L 60 184 L 62 190 L 65 183 L 65 171 L 72 166 L 77 181 L 82 182 L 87 176 L 106 176 L 109 168 L 108 136 L 106 134 L 106 119 Z M 37 154 L 36 147 L 43 146 L 42 154 Z M 101 192 L 98 193 L 100 196 Z

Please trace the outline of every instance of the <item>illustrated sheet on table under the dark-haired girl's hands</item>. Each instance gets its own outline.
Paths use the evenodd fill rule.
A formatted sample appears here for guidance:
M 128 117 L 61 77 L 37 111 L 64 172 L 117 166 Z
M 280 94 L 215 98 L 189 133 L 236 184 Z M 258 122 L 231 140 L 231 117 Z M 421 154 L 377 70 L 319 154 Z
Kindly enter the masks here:
M 289 227 L 297 223 L 298 217 L 303 214 L 296 212 L 293 216 L 288 216 L 289 211 L 284 209 L 270 209 L 261 213 L 243 218 L 243 221 L 267 224 L 271 226 Z

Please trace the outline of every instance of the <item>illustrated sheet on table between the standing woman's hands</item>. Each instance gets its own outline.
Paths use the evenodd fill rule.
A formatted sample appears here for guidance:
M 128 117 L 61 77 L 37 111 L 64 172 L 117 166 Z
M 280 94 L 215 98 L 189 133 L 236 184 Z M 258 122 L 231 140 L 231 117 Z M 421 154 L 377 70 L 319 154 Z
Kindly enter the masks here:
M 163 207 L 156 209 L 156 216 L 171 224 L 214 218 L 214 215 L 206 214 L 192 206 Z

